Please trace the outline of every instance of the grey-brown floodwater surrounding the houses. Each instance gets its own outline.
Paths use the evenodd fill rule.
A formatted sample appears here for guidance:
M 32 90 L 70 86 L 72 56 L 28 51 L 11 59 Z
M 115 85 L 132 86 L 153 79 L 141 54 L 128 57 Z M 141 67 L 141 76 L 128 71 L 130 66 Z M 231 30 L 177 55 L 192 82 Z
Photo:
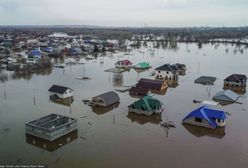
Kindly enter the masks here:
M 229 52 L 226 52 L 226 48 Z M 247 168 L 248 166 L 248 100 L 243 95 L 239 102 L 217 106 L 229 112 L 225 129 L 207 130 L 182 125 L 182 119 L 200 106 L 196 100 L 211 100 L 222 90 L 223 79 L 232 73 L 248 75 L 248 52 L 233 51 L 235 46 L 178 44 L 178 48 L 148 48 L 132 51 L 132 55 L 114 53 L 98 57 L 87 64 L 54 68 L 46 73 L 33 74 L 28 79 L 8 74 L 0 84 L 0 163 L 48 164 L 52 168 L 73 167 L 149 167 L 149 168 Z M 150 62 L 153 68 L 165 63 L 184 63 L 187 72 L 179 76 L 178 86 L 169 88 L 165 95 L 155 95 L 165 106 L 160 116 L 147 118 L 128 114 L 127 106 L 137 98 L 128 92 L 118 93 L 120 104 L 104 111 L 82 103 L 100 93 L 114 90 L 123 84 L 134 83 L 141 77 L 152 78 L 150 72 L 134 70 L 123 73 L 115 81 L 113 73 L 104 72 L 114 67 L 118 59 L 133 63 Z M 104 59 L 104 63 L 100 63 Z M 83 67 L 84 66 L 84 67 Z M 84 72 L 83 72 L 84 69 Z M 83 81 L 76 76 L 91 77 Z M 201 75 L 217 77 L 213 86 L 194 84 Z M 72 88 L 74 101 L 70 106 L 49 101 L 48 89 L 53 84 Z M 6 91 L 6 97 L 4 94 Z M 25 123 L 50 113 L 78 119 L 78 130 L 54 144 L 26 136 Z M 173 121 L 176 128 L 165 130 L 163 121 Z M 34 138 L 34 139 L 32 139 Z M 34 142 L 36 142 L 34 144 Z M 46 145 L 44 145 L 46 144 Z M 44 149 L 45 148 L 45 149 Z

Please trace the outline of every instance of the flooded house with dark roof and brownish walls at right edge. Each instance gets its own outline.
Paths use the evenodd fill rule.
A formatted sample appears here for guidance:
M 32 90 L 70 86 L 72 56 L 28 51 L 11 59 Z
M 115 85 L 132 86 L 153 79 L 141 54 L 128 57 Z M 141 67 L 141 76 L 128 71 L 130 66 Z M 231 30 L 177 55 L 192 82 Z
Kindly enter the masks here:
M 232 74 L 224 79 L 224 89 L 231 89 L 234 91 L 245 91 L 246 81 L 246 75 Z

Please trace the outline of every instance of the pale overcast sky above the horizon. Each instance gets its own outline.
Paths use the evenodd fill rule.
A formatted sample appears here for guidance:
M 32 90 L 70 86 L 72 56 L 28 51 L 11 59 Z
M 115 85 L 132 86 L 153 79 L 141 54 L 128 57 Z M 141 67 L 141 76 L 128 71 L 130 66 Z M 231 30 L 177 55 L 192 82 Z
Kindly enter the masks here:
M 248 26 L 248 0 L 0 0 L 0 25 Z

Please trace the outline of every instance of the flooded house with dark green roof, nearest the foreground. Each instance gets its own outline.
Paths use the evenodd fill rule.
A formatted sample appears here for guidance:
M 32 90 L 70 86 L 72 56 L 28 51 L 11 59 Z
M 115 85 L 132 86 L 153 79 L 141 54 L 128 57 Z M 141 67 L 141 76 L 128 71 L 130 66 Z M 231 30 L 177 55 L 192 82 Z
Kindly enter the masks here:
M 150 116 L 160 114 L 163 111 L 163 104 L 151 96 L 145 96 L 128 106 L 129 112 Z

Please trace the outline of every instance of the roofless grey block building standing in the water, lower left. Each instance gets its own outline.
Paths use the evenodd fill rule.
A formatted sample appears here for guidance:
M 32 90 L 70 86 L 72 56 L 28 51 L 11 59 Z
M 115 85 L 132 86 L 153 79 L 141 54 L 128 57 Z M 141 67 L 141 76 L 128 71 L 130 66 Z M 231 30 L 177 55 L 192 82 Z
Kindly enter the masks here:
M 25 124 L 26 133 L 48 141 L 54 141 L 77 128 L 77 120 L 58 114 L 50 114 Z

